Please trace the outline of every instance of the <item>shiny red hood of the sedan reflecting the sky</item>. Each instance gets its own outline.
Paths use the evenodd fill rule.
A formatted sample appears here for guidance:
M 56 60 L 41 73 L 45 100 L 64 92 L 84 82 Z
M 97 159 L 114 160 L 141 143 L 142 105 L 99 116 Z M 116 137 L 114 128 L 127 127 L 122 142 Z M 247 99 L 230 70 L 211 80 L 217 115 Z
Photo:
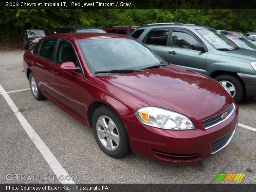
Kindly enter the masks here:
M 150 106 L 179 112 L 198 124 L 220 114 L 233 102 L 217 81 L 174 65 L 97 78 L 136 96 Z

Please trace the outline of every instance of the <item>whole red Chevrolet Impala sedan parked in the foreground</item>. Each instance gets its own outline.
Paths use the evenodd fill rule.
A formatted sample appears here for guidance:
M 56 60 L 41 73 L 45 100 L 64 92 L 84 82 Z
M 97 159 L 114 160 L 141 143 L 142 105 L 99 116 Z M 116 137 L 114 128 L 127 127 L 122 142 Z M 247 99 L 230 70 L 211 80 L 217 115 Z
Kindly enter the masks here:
M 92 127 L 114 158 L 132 150 L 197 162 L 227 146 L 238 124 L 238 106 L 220 83 L 124 35 L 48 35 L 25 52 L 24 72 L 36 100 Z

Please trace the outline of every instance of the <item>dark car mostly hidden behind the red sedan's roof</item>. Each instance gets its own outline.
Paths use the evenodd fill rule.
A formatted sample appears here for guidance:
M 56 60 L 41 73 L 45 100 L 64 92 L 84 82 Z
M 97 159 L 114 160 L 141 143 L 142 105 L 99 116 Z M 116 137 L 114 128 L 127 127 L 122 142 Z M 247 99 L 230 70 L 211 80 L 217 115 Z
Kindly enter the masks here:
M 92 26 L 72 25 L 72 26 L 60 27 L 54 33 L 106 33 L 106 32 L 102 29 L 97 29 Z

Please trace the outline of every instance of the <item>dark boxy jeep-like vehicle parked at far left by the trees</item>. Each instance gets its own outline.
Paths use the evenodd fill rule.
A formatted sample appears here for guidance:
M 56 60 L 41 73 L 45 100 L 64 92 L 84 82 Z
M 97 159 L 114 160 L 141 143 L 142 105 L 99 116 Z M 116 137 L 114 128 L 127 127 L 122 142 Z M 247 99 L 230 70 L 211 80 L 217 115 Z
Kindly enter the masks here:
M 41 38 L 45 36 L 44 30 L 26 29 L 22 32 L 23 48 L 32 48 Z

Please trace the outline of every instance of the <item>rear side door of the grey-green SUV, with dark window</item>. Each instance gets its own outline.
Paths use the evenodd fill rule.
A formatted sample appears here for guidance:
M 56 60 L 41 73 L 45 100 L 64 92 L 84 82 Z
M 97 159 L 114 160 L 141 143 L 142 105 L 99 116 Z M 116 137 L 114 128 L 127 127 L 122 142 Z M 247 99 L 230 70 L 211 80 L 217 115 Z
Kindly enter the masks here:
M 166 59 L 169 33 L 170 28 L 156 28 L 150 30 L 142 42 L 157 52 L 163 59 Z

